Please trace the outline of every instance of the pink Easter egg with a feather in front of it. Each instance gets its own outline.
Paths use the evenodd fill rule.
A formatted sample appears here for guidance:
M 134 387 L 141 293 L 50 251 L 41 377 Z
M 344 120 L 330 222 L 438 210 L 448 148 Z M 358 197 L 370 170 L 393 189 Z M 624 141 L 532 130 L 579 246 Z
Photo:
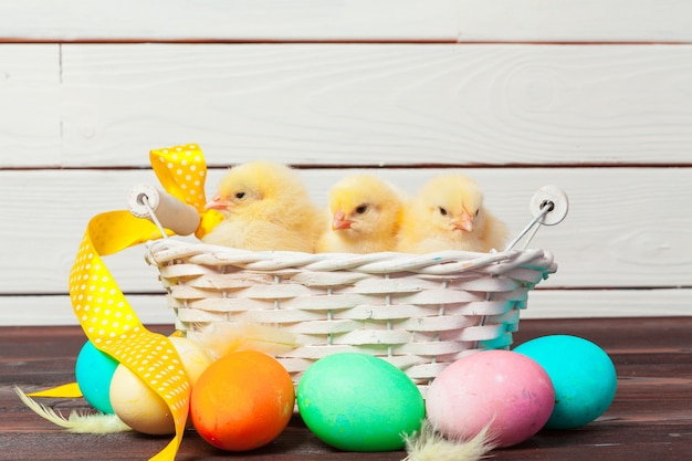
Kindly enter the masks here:
M 470 439 L 486 425 L 499 447 L 521 443 L 551 417 L 555 392 L 535 360 L 510 350 L 468 355 L 428 388 L 428 419 L 452 439 Z

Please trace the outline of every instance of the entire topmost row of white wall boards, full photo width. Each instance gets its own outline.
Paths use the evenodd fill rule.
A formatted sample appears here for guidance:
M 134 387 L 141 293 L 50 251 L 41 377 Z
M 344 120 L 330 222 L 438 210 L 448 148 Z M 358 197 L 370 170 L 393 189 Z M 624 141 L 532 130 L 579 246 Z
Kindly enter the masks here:
M 690 42 L 684 0 L 6 0 L 0 40 Z

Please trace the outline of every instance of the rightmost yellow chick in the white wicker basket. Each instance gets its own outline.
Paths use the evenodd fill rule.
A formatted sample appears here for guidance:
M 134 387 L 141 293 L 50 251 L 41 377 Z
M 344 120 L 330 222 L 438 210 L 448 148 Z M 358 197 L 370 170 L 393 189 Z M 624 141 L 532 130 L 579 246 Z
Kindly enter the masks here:
M 506 226 L 483 206 L 483 192 L 470 178 L 449 174 L 432 178 L 403 211 L 397 250 L 504 250 Z

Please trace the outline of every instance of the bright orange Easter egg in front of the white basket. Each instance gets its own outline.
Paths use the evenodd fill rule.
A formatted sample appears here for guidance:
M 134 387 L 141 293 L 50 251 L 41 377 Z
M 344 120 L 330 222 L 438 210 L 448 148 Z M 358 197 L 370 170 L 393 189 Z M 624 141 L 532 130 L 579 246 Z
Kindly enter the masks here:
M 291 375 L 254 350 L 228 354 L 207 368 L 190 397 L 190 418 L 202 439 L 227 451 L 247 451 L 274 440 L 293 415 Z

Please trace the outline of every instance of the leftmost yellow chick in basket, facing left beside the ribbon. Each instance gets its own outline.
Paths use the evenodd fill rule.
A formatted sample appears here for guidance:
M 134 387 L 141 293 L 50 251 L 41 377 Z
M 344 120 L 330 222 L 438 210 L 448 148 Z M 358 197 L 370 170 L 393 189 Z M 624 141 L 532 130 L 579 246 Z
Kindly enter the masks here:
M 231 168 L 207 209 L 219 210 L 224 217 L 202 238 L 211 244 L 312 252 L 319 231 L 319 210 L 300 175 L 266 160 Z

